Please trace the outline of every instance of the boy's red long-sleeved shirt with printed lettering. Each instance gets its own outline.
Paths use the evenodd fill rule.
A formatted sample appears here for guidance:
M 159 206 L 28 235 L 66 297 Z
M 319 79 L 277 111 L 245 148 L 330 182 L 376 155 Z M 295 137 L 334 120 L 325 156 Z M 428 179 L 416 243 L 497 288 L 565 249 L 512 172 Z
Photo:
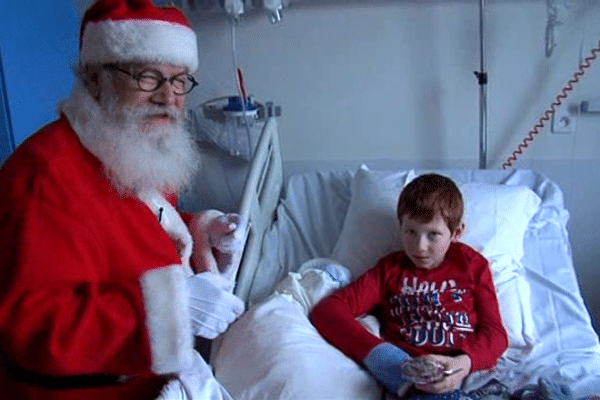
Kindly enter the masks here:
M 378 317 L 382 338 L 355 320 L 366 313 Z M 431 270 L 415 267 L 404 252 L 387 255 L 321 301 L 310 319 L 357 362 L 387 341 L 411 356 L 466 353 L 477 371 L 494 367 L 508 346 L 488 261 L 458 242 Z

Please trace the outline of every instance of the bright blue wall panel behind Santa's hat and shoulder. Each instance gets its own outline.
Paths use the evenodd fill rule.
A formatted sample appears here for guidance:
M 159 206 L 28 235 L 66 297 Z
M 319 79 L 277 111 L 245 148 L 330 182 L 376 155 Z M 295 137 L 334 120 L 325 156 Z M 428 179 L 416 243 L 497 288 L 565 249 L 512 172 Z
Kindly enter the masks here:
M 2 0 L 0 43 L 16 145 L 57 118 L 73 84 L 79 14 L 69 0 Z

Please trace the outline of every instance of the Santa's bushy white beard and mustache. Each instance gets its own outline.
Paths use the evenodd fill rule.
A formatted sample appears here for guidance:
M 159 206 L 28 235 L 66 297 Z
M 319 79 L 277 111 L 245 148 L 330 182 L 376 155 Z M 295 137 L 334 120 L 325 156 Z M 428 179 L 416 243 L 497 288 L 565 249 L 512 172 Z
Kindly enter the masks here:
M 123 110 L 111 99 L 99 104 L 80 82 L 61 105 L 84 147 L 104 164 L 122 192 L 177 192 L 184 189 L 200 164 L 200 153 L 181 112 L 167 107 Z M 170 112 L 174 123 L 150 127 L 143 116 Z

